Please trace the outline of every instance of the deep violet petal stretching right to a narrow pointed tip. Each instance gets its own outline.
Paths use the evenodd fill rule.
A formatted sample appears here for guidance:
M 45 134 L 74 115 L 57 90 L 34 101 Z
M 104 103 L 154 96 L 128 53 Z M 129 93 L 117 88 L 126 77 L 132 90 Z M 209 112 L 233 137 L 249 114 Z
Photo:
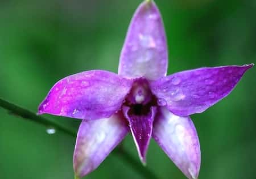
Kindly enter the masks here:
M 181 71 L 151 82 L 150 86 L 172 113 L 189 116 L 204 112 L 227 96 L 250 67 L 253 64 Z

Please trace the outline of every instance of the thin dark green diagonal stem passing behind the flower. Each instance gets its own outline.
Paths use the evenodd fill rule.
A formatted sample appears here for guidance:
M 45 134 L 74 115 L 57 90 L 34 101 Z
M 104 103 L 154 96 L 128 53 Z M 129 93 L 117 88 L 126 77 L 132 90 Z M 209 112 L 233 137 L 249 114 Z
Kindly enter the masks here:
M 39 123 L 40 125 L 44 125 L 47 128 L 48 127 L 54 127 L 57 131 L 62 131 L 63 133 L 72 135 L 73 137 L 76 137 L 76 130 L 70 129 L 70 127 L 65 127 L 64 125 L 61 125 L 60 123 L 49 120 L 48 118 L 44 118 L 42 116 L 36 115 L 36 113 L 31 112 L 30 110 L 24 109 L 18 105 L 15 105 L 13 103 L 10 103 L 9 101 L 3 100 L 0 98 L 0 106 L 2 108 L 5 108 L 10 111 L 10 113 L 15 114 L 18 117 L 22 117 L 23 119 L 33 121 L 36 123 Z M 119 157 L 121 157 L 123 160 L 126 161 L 126 163 L 134 169 L 137 173 L 141 174 L 143 178 L 148 179 L 156 179 L 156 175 L 150 171 L 150 169 L 143 167 L 139 161 L 134 159 L 132 155 L 130 155 L 127 151 L 125 151 L 122 147 L 119 147 L 113 151 L 113 153 Z

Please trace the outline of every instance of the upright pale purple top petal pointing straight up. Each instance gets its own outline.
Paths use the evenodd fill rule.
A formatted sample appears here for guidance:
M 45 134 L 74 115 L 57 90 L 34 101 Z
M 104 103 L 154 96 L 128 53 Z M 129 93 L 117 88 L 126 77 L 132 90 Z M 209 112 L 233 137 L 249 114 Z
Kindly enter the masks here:
M 123 45 L 118 74 L 127 78 L 166 76 L 168 52 L 166 34 L 158 7 L 144 1 L 131 20 Z

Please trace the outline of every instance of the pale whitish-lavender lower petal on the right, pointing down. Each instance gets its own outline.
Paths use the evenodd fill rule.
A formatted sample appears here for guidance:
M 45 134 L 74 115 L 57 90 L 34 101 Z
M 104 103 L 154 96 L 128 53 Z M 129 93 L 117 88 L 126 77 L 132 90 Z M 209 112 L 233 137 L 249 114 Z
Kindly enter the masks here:
M 176 116 L 166 107 L 160 107 L 152 137 L 185 176 L 198 177 L 200 145 L 191 118 Z

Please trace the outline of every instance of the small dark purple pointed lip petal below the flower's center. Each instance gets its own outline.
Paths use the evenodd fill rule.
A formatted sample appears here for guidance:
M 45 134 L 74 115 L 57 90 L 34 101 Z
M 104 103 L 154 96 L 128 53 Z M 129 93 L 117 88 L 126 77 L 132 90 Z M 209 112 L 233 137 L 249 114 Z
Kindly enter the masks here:
M 155 108 L 150 109 L 146 115 L 136 115 L 132 109 L 123 106 L 123 113 L 129 121 L 131 134 L 136 144 L 139 157 L 143 164 L 146 164 L 146 153 L 152 134 L 152 125 L 155 117 Z

